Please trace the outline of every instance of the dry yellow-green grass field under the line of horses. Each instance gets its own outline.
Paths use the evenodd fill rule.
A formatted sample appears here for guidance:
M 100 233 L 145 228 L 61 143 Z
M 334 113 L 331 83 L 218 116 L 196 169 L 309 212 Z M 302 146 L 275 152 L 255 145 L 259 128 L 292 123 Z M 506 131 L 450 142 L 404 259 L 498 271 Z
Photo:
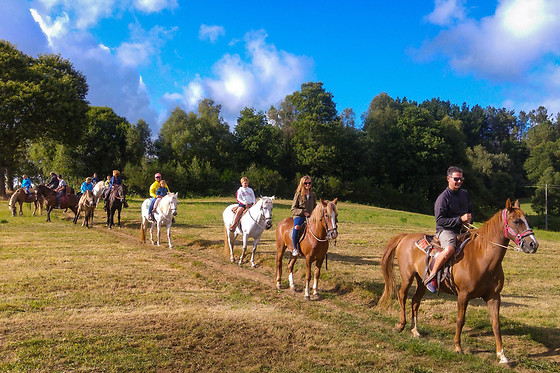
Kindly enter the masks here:
M 181 200 L 174 249 L 141 244 L 140 203 L 109 231 L 56 210 L 52 222 L 0 209 L 0 371 L 6 372 L 492 372 L 494 337 L 483 301 L 471 302 L 466 354 L 453 352 L 456 302 L 428 294 L 419 330 L 393 330 L 396 302 L 376 308 L 382 249 L 396 233 L 433 231 L 433 217 L 339 203 L 339 238 L 323 268 L 322 299 L 275 289 L 274 228 L 290 215 L 276 200 L 275 226 L 258 267 L 231 264 L 222 210 L 228 199 Z M 541 246 L 504 259 L 502 333 L 516 371 L 560 371 L 560 234 L 536 231 Z M 162 236 L 163 237 L 163 236 Z M 239 257 L 239 242 L 236 257 Z M 246 258 L 248 260 L 248 258 Z M 287 288 L 287 277 L 283 278 Z M 410 302 L 408 303 L 410 306 Z

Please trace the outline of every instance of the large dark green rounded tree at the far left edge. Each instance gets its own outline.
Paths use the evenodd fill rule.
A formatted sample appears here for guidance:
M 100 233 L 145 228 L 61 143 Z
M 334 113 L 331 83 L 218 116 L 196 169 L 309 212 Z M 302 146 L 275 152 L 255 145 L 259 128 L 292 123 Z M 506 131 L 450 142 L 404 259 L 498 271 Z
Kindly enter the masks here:
M 80 141 L 87 91 L 83 74 L 59 55 L 32 58 L 0 41 L 0 195 L 30 141 Z

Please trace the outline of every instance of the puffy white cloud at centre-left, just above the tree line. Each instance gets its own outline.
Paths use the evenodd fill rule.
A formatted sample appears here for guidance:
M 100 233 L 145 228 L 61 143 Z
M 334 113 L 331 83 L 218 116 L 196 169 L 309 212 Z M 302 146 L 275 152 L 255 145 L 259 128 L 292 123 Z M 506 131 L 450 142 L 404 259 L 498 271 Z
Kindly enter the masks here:
M 264 31 L 245 35 L 248 60 L 238 54 L 226 54 L 213 66 L 214 77 L 196 79 L 178 93 L 168 93 L 169 104 L 178 101 L 186 110 L 196 110 L 203 98 L 212 98 L 222 105 L 224 119 L 235 125 L 239 112 L 245 107 L 267 110 L 286 95 L 300 88 L 311 70 L 312 61 L 277 50 L 266 43 Z

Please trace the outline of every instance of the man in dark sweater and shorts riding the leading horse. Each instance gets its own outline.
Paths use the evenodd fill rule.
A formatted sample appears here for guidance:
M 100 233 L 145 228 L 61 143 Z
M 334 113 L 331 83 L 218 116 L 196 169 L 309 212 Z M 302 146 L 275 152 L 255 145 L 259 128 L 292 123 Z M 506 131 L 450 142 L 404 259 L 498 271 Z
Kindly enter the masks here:
M 432 293 L 437 290 L 436 275 L 441 266 L 455 253 L 457 235 L 463 224 L 472 223 L 473 205 L 469 193 L 463 186 L 463 170 L 451 166 L 447 169 L 447 188 L 434 204 L 436 234 L 443 251 L 434 259 L 434 268 L 426 276 L 424 284 Z

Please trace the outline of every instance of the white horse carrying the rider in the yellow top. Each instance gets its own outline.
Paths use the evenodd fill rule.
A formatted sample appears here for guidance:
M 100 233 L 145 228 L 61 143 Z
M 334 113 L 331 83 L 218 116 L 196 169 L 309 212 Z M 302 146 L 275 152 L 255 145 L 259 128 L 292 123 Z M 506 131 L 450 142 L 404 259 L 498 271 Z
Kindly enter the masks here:
M 161 226 L 165 225 L 167 227 L 167 242 L 169 243 L 169 248 L 173 248 L 173 245 L 171 244 L 171 224 L 173 223 L 173 217 L 177 215 L 178 194 L 179 193 L 168 193 L 161 199 L 161 201 L 159 201 L 159 204 L 153 211 L 155 221 L 151 222 L 152 225 L 150 227 L 150 241 L 152 241 L 153 245 L 157 244 L 159 246 Z M 140 238 L 142 242 L 146 242 L 145 230 L 150 222 L 148 220 L 148 208 L 151 200 L 151 198 L 148 198 L 142 202 L 142 224 L 140 225 L 140 229 L 142 231 Z M 157 225 L 157 242 L 155 243 L 153 239 L 154 224 Z

